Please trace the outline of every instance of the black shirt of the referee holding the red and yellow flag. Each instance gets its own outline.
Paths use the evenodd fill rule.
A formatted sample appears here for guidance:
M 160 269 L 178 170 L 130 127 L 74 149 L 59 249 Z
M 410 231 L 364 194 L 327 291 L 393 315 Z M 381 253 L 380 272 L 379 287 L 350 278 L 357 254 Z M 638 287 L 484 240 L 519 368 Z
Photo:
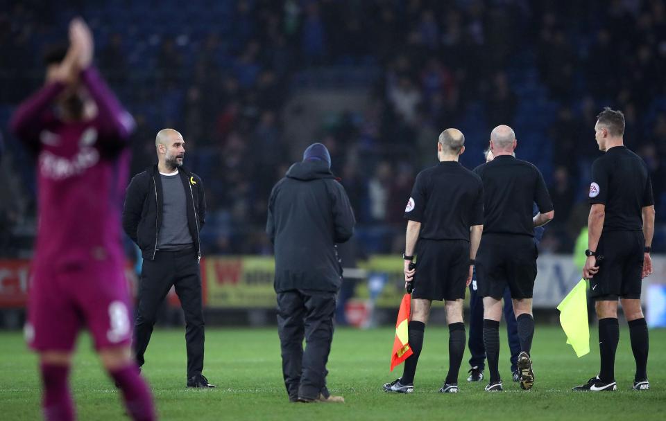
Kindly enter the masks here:
M 456 161 L 442 161 L 416 176 L 404 218 L 420 222 L 419 238 L 470 241 L 470 226 L 484 224 L 481 179 Z

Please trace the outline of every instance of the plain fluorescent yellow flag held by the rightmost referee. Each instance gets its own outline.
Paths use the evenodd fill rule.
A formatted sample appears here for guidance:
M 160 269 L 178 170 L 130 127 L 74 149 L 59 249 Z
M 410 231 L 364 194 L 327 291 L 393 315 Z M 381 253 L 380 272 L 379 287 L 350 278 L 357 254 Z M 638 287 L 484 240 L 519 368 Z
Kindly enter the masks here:
M 560 324 L 567 334 L 567 343 L 574 348 L 578 357 L 583 357 L 590 352 L 586 289 L 587 282 L 581 279 L 581 282 L 557 306 L 557 310 L 560 310 Z

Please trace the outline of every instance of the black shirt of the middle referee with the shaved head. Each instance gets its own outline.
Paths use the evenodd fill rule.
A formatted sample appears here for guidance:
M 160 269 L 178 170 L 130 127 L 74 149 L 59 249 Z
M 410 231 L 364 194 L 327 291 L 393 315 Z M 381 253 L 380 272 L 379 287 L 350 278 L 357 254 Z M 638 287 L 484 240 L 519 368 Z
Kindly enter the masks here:
M 553 210 L 541 172 L 511 155 L 495 156 L 475 168 L 484 183 L 484 234 L 534 236 L 533 204 L 540 213 Z

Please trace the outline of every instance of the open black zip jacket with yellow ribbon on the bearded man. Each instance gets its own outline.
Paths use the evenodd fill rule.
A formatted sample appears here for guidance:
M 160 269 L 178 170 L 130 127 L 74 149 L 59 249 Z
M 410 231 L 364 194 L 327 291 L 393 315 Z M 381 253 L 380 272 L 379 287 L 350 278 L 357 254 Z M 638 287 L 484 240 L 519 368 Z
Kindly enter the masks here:
M 203 183 L 198 175 L 178 168 L 187 197 L 187 226 L 194 240 L 194 249 L 201 257 L 199 231 L 206 219 L 206 198 Z M 162 227 L 164 196 L 162 179 L 157 165 L 136 174 L 125 195 L 123 206 L 123 230 L 141 249 L 144 259 L 154 260 L 157 247 L 157 231 Z

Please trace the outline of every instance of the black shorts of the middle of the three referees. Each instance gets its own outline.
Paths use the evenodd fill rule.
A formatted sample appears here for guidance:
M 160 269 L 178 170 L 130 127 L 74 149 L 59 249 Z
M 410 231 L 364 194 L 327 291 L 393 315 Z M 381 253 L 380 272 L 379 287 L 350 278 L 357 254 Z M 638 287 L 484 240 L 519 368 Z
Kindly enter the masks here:
M 497 300 L 509 286 L 511 298 L 532 298 L 539 252 L 527 235 L 484 234 L 477 253 L 477 290 Z

